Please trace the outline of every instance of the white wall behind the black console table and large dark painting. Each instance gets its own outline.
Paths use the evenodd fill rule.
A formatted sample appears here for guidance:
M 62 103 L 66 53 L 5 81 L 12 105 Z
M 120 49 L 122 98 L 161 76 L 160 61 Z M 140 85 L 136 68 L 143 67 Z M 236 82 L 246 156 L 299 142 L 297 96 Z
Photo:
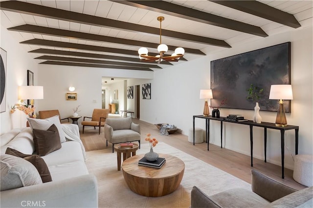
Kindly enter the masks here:
M 200 89 L 210 88 L 210 62 L 220 58 L 252 51 L 271 45 L 291 42 L 291 84 L 293 101 L 291 113 L 287 114 L 290 125 L 299 126 L 299 154 L 313 154 L 312 134 L 312 83 L 313 49 L 312 27 L 293 32 L 274 35 L 246 45 L 233 46 L 217 54 L 180 63 L 171 68 L 158 70 L 152 83 L 152 99 L 141 102 L 140 119 L 152 124 L 175 124 L 188 135 L 192 128 L 193 115 L 201 115 L 204 101 L 199 99 Z M 221 109 L 221 115 L 243 114 L 252 119 L 252 110 Z M 261 111 L 262 120 L 275 122 L 275 112 Z M 196 119 L 196 126 L 205 129 L 205 120 Z M 212 122 L 210 143 L 221 145 L 220 123 Z M 264 158 L 263 128 L 253 130 L 254 157 Z M 249 127 L 245 125 L 224 124 L 223 146 L 250 155 Z M 293 168 L 291 154 L 295 154 L 294 130 L 285 133 L 285 167 Z M 268 130 L 268 162 L 281 165 L 280 132 Z M 288 149 L 291 153 L 288 151 Z

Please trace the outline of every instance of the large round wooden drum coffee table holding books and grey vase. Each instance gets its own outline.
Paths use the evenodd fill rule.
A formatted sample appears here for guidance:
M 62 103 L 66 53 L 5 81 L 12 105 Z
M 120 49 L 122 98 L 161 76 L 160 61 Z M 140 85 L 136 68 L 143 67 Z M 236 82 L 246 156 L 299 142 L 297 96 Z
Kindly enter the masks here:
M 122 164 L 124 179 L 128 187 L 142 196 L 164 196 L 175 191 L 184 175 L 185 164 L 177 157 L 159 154 L 165 158 L 165 164 L 160 168 L 138 166 L 138 161 L 144 155 L 136 155 Z

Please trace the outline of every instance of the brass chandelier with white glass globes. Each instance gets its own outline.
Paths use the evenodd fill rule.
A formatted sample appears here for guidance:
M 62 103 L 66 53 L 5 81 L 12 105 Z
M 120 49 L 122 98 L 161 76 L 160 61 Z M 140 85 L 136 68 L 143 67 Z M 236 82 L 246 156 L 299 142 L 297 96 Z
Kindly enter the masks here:
M 179 58 L 182 57 L 185 53 L 185 50 L 181 47 L 175 49 L 174 53 L 171 56 L 164 56 L 164 53 L 167 52 L 168 47 L 166 44 L 162 44 L 162 21 L 164 17 L 157 17 L 157 21 L 160 21 L 160 44 L 157 46 L 157 51 L 160 55 L 157 56 L 148 56 L 148 49 L 141 47 L 138 50 L 140 61 L 142 62 L 157 62 L 162 61 L 166 62 L 178 62 Z

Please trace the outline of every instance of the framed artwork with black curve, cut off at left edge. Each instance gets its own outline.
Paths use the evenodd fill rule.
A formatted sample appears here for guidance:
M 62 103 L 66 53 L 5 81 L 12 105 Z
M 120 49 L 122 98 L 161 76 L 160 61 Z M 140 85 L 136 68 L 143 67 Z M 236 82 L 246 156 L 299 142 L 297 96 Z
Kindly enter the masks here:
M 0 48 L 0 112 L 6 110 L 6 51 Z

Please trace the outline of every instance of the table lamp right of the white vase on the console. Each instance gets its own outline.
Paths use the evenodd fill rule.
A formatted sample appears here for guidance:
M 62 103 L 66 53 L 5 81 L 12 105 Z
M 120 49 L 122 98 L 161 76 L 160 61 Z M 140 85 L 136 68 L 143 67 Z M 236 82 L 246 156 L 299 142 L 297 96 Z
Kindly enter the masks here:
M 270 86 L 269 99 L 278 100 L 279 108 L 276 116 L 276 126 L 286 126 L 287 119 L 284 108 L 284 100 L 292 100 L 291 84 L 274 84 Z

